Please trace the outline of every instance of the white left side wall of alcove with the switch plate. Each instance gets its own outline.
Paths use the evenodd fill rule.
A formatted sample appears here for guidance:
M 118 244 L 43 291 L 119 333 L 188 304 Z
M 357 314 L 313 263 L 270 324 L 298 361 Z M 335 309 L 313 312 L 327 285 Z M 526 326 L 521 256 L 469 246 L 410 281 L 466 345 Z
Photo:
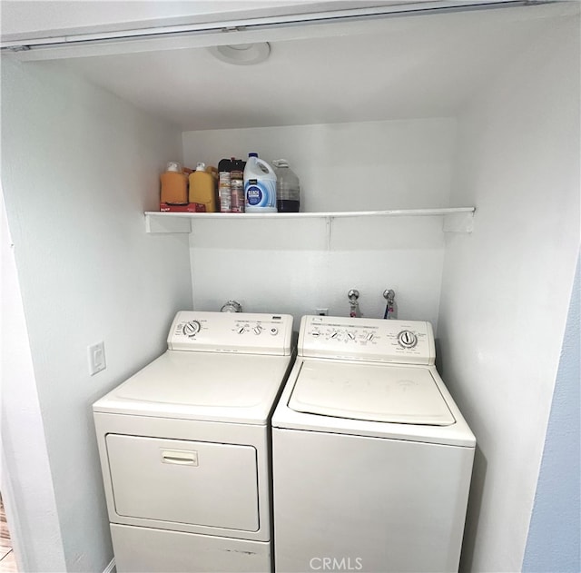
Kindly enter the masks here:
M 2 181 L 69 571 L 102 571 L 113 557 L 91 404 L 159 355 L 174 312 L 192 305 L 187 239 L 147 235 L 143 222 L 181 151 L 171 125 L 3 56 Z M 107 369 L 90 377 L 97 341 Z

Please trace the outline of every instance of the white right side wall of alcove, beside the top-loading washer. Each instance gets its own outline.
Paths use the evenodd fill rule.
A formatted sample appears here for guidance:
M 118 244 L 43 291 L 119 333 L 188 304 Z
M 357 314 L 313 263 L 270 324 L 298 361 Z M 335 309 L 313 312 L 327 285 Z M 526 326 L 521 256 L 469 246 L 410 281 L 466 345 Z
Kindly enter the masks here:
M 555 24 L 458 123 L 443 374 L 478 440 L 462 567 L 521 569 L 579 244 L 579 21 Z

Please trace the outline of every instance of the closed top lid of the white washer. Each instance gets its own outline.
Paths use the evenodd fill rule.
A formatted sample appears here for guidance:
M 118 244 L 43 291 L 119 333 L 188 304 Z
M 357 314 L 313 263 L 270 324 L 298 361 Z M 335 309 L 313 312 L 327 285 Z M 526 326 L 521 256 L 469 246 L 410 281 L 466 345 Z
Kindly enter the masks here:
M 449 426 L 455 423 L 427 368 L 305 361 L 289 408 L 351 420 Z

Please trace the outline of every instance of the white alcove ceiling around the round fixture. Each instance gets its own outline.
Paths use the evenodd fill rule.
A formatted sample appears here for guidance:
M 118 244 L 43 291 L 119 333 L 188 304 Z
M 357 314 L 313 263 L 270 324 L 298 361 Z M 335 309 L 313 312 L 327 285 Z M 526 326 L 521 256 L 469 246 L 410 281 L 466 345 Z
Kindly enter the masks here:
M 82 74 L 182 131 L 343 123 L 458 113 L 503 64 L 534 46 L 555 6 L 375 18 L 233 35 L 264 39 L 261 64 L 225 64 L 207 47 L 68 57 L 43 65 Z M 321 30 L 323 30 L 321 32 Z M 231 39 L 232 38 L 232 39 Z M 118 50 L 118 52 L 123 50 Z

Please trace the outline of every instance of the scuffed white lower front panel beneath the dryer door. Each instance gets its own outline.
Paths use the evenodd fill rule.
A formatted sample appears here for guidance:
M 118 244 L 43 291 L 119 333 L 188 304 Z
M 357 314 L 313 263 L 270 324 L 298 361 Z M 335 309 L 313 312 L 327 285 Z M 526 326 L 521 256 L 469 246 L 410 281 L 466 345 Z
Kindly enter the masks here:
M 271 543 L 111 525 L 117 573 L 270 573 Z

